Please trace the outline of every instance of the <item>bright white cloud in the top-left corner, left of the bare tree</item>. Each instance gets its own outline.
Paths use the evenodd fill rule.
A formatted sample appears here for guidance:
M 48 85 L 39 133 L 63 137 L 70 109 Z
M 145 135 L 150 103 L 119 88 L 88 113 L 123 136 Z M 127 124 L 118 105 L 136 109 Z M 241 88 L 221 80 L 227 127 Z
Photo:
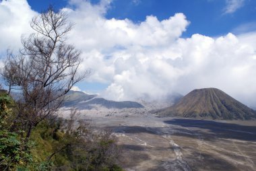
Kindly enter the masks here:
M 3 0 L 0 2 L 0 54 L 7 48 L 21 46 L 20 36 L 29 34 L 30 20 L 36 15 L 26 0 Z

